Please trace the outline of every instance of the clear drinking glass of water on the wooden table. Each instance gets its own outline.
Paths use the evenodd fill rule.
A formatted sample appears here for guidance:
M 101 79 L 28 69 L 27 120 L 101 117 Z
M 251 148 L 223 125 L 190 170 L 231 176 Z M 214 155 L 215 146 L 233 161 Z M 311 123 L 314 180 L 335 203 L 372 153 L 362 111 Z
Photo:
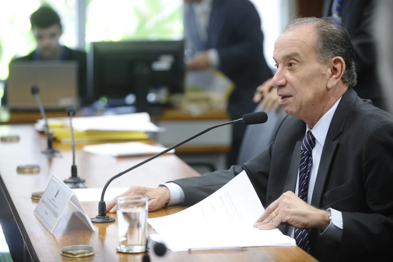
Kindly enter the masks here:
M 147 196 L 116 197 L 119 246 L 122 253 L 140 253 L 146 249 Z

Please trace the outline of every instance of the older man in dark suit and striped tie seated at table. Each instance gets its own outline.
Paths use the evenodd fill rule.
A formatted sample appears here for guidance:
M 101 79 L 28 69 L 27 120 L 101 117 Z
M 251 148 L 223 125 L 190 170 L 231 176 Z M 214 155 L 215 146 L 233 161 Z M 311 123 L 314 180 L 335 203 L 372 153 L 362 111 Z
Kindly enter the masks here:
M 267 207 L 254 227 L 278 227 L 322 261 L 388 255 L 393 116 L 352 89 L 355 51 L 348 32 L 330 19 L 296 19 L 277 39 L 273 56 L 272 83 L 288 116 L 264 152 L 227 171 L 123 194 L 147 195 L 150 210 L 193 205 L 245 170 Z M 108 203 L 110 212 L 113 206 Z

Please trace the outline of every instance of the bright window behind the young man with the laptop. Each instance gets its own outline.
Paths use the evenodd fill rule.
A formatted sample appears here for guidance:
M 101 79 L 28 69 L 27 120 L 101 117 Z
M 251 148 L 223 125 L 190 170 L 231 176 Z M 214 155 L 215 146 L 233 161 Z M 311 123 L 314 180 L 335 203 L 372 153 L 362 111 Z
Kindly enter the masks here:
M 14 57 L 25 56 L 36 48 L 31 33 L 30 15 L 41 5 L 51 6 L 60 16 L 63 35 L 60 43 L 76 46 L 77 0 L 13 0 L 0 1 L 0 80 L 8 77 L 8 64 Z M 2 95 L 3 90 L 0 90 Z M 1 96 L 0 95 L 0 96 Z

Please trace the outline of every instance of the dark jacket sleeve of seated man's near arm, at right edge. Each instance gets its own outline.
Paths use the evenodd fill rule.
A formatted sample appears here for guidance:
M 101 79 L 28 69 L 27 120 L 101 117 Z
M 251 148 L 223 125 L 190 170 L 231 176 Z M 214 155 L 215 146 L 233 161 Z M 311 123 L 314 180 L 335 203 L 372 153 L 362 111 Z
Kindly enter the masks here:
M 387 135 L 383 135 L 387 134 Z M 342 212 L 341 257 L 356 250 L 390 252 L 393 242 L 393 124 L 381 123 L 368 136 L 363 151 L 364 197 L 369 213 Z

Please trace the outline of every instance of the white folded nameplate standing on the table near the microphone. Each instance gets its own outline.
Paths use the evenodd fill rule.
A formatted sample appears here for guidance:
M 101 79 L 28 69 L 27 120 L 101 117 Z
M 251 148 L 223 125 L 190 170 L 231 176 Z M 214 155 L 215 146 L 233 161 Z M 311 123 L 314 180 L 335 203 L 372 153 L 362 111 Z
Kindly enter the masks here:
M 53 234 L 62 215 L 64 215 L 67 204 L 70 205 L 72 212 L 91 230 L 96 231 L 77 196 L 56 176 L 52 176 L 49 181 L 40 202 L 34 210 L 34 214 L 49 232 Z

